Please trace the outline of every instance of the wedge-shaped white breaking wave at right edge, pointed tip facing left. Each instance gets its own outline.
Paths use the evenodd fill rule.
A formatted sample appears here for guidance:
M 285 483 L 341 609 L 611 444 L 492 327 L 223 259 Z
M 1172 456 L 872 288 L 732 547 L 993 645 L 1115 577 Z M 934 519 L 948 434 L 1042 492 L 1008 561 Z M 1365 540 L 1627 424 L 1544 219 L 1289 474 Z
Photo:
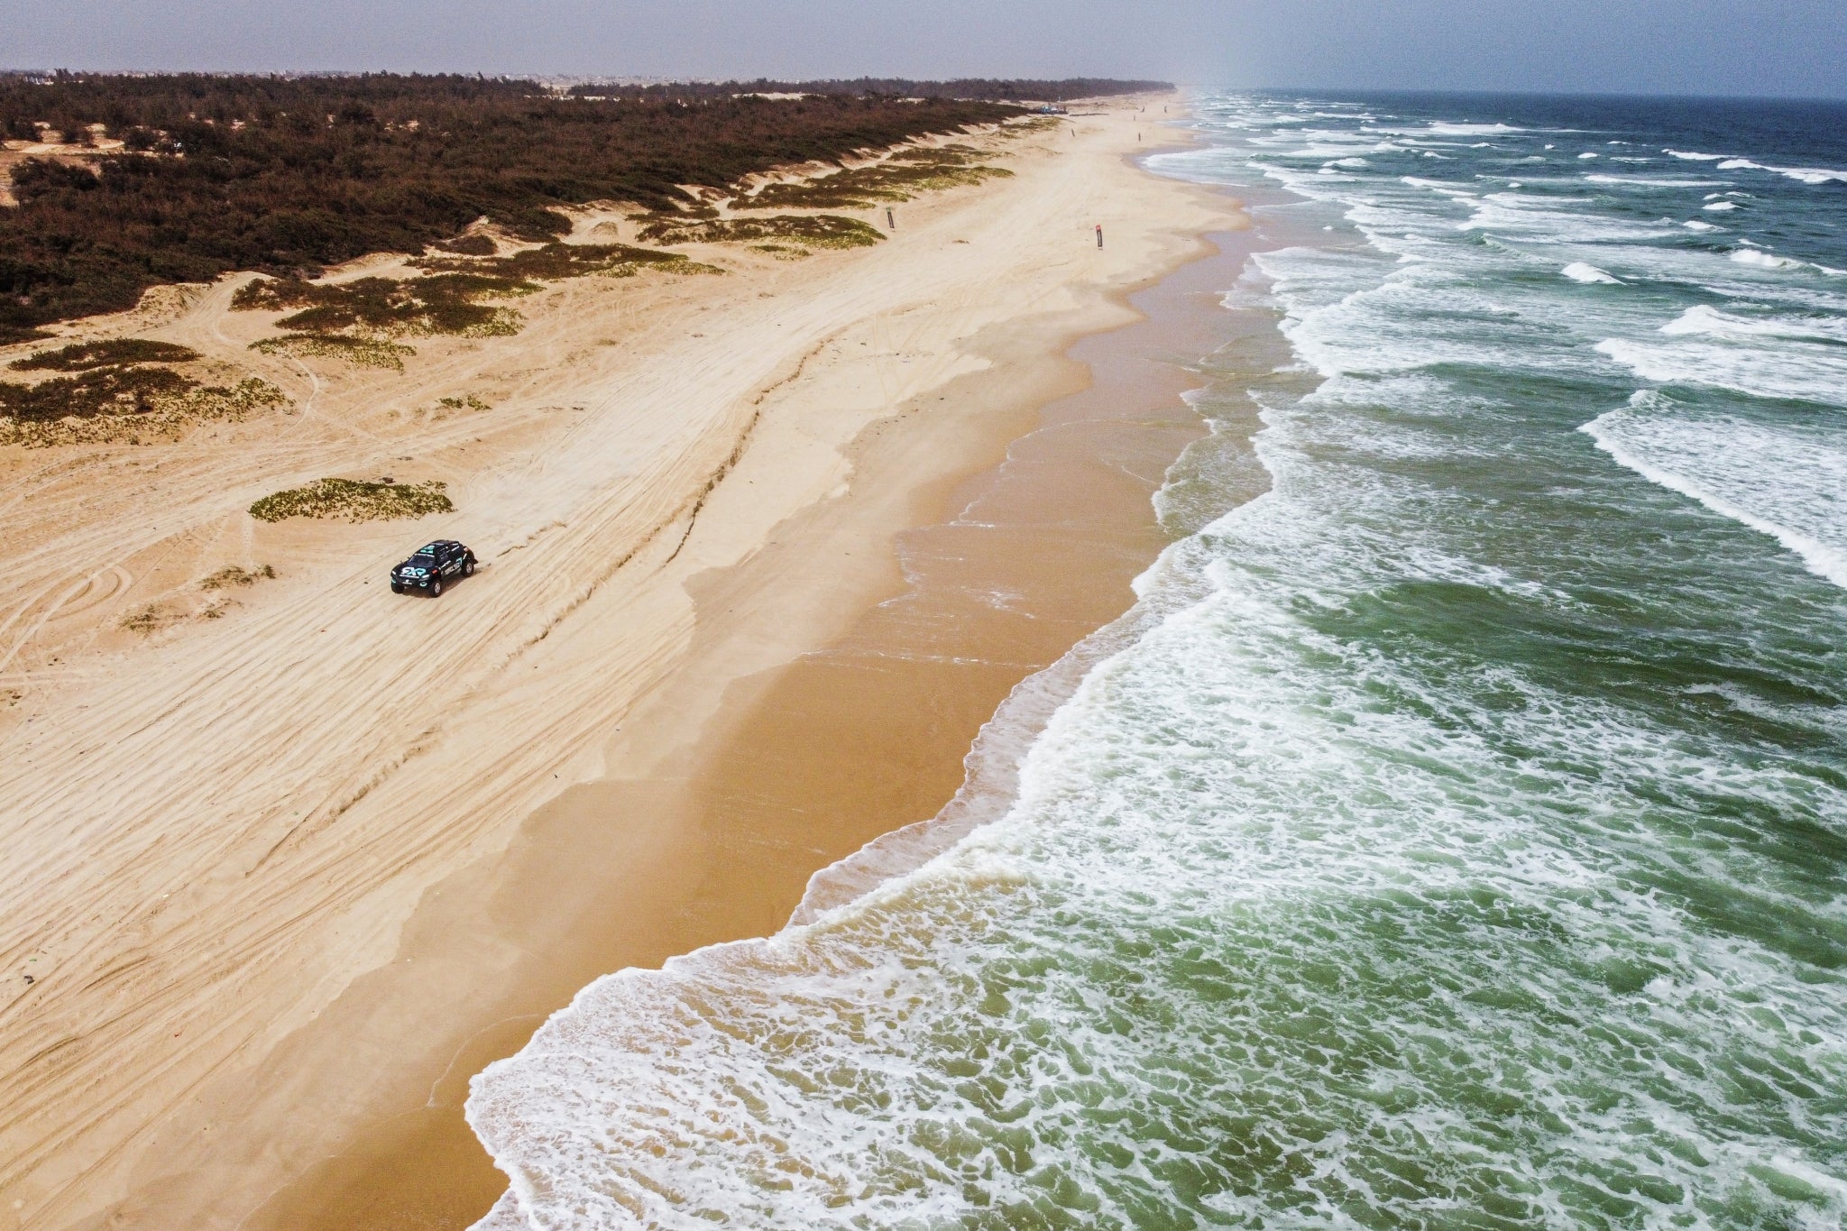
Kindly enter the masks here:
M 1646 480 L 1769 535 L 1847 587 L 1847 437 L 1697 417 L 1655 393 L 1581 428 Z

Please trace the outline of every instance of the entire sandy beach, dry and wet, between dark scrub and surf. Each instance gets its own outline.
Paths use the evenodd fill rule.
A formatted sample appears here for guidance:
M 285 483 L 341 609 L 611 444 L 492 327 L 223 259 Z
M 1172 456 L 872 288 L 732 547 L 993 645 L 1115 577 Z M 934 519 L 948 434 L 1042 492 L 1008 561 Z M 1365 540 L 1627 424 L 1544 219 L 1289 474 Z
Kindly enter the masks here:
M 296 413 L 0 460 L 0 1227 L 465 1225 L 502 1187 L 471 1072 L 935 814 L 1129 605 L 1199 432 L 1210 329 L 1068 354 L 1239 225 L 1132 164 L 1138 107 L 984 138 L 1014 175 L 875 249 L 693 247 L 728 277 L 565 282 L 404 373 L 253 360 L 236 281 L 113 323 L 268 364 Z M 244 513 L 323 474 L 456 511 Z M 478 576 L 392 596 L 434 535 Z M 201 598 L 227 565 L 275 578 Z

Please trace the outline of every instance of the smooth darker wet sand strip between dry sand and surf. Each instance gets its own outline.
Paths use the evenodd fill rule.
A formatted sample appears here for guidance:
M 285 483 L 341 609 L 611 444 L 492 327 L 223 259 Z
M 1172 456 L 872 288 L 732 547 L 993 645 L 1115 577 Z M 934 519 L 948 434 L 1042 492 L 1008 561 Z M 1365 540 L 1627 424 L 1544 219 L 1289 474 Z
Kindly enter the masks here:
M 966 410 L 909 408 L 874 424 L 851 447 L 850 493 L 792 519 L 752 559 L 696 578 L 707 642 L 748 639 L 754 622 L 791 615 L 781 604 L 803 585 L 798 561 L 831 552 L 866 570 L 851 554 L 877 556 L 827 644 L 726 687 L 691 746 L 650 747 L 643 709 L 611 736 L 600 781 L 567 790 L 504 856 L 427 895 L 392 995 L 356 986 L 331 1013 L 351 1021 L 323 1024 L 388 1045 L 390 1021 L 416 1000 L 412 963 L 430 995 L 456 980 L 477 995 L 449 1006 L 454 1021 L 399 1111 L 246 1225 L 465 1227 L 504 1189 L 462 1118 L 473 1072 L 598 974 L 774 932 L 816 869 L 935 816 L 996 707 L 1121 615 L 1130 580 L 1165 546 L 1151 495 L 1202 434 L 1180 397 L 1199 384 L 1189 364 L 1271 330 L 1219 303 L 1250 244 L 1250 233 L 1215 236 L 1213 255 L 1132 295 L 1145 319 L 1084 338 L 1068 358 L 1058 347 L 1034 358 L 1044 338 L 1010 338 L 1010 365 L 996 356 L 996 371 L 929 395 L 953 406 L 968 393 Z M 936 472 L 918 482 L 920 465 Z M 855 508 L 881 500 L 890 508 L 870 517 Z M 696 642 L 689 663 L 722 657 Z M 650 707 L 698 705 L 709 685 L 682 674 Z M 288 1070 L 286 1052 L 272 1069 Z

